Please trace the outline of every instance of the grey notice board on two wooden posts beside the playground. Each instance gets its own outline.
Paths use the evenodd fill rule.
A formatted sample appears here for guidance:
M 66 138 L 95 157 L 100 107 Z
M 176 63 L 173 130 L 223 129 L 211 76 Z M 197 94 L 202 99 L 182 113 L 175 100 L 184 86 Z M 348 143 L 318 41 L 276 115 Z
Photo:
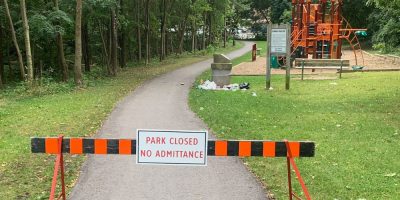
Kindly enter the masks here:
M 266 89 L 271 89 L 271 56 L 284 57 L 286 89 L 290 89 L 290 24 L 268 24 Z

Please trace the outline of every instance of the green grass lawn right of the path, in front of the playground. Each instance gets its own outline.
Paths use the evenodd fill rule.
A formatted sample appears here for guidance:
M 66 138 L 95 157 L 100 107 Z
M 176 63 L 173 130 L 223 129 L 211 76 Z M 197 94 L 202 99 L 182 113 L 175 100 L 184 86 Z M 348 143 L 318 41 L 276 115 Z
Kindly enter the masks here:
M 273 76 L 274 89 L 266 91 L 265 77 L 233 77 L 251 89 L 193 89 L 190 107 L 218 138 L 315 141 L 314 158 L 296 159 L 313 199 L 399 199 L 400 73 L 292 80 L 290 91 L 284 81 Z M 244 162 L 270 193 L 287 198 L 285 158 Z

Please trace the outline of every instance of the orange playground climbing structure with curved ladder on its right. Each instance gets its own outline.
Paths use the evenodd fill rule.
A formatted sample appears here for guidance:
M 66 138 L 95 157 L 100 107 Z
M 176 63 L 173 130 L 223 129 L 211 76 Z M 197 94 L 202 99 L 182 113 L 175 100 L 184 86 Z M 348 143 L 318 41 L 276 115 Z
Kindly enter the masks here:
M 342 6 L 343 0 L 292 0 L 292 57 L 341 59 L 345 39 L 354 52 L 356 65 L 364 64 L 357 34 L 365 34 L 366 29 L 352 28 L 342 16 Z

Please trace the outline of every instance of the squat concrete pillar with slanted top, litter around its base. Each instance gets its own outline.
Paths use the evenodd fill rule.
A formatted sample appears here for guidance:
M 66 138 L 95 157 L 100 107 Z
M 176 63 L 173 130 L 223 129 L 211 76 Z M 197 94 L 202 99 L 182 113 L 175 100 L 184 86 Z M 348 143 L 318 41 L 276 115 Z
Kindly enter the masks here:
M 214 63 L 211 64 L 211 70 L 212 81 L 214 81 L 217 86 L 223 87 L 224 85 L 230 84 L 230 74 L 232 70 L 231 59 L 224 54 L 214 54 Z

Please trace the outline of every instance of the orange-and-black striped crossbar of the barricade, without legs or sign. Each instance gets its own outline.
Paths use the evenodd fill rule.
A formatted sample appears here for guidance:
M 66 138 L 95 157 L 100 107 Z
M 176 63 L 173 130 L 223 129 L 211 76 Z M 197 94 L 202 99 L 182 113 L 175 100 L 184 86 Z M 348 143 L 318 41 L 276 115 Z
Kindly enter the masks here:
M 207 142 L 209 156 L 263 156 L 286 157 L 285 142 L 281 141 L 226 141 L 209 140 Z M 313 142 L 289 142 L 292 157 L 313 157 Z M 58 138 L 32 138 L 32 153 L 58 153 Z M 134 139 L 92 139 L 64 138 L 63 153 L 70 154 L 136 154 Z

